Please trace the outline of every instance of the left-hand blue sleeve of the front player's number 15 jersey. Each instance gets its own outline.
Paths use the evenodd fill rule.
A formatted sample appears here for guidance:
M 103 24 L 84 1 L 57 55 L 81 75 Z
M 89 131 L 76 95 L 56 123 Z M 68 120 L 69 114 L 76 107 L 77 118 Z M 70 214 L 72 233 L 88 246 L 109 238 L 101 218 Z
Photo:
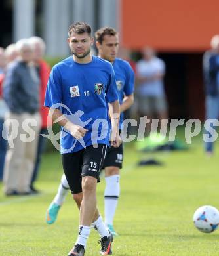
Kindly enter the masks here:
M 57 67 L 52 68 L 47 83 L 44 106 L 52 107 L 62 103 L 62 79 Z

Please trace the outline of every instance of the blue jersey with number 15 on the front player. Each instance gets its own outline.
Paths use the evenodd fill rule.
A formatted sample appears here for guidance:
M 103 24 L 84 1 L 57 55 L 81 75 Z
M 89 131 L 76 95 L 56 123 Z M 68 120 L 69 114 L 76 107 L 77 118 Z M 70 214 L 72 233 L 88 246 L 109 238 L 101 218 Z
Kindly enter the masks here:
M 91 62 L 79 64 L 70 56 L 56 64 L 47 84 L 45 106 L 60 109 L 73 123 L 89 130 L 83 139 L 77 140 L 62 127 L 61 154 L 92 144 L 109 146 L 107 105 L 117 99 L 115 74 L 106 60 L 92 56 Z

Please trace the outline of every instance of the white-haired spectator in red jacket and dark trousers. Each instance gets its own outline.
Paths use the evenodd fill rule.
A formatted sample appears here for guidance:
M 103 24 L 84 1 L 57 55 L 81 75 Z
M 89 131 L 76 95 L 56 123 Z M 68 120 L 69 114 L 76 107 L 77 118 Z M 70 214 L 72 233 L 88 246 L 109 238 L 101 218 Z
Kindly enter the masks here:
M 41 163 L 41 156 L 43 151 L 45 150 L 47 139 L 43 137 L 41 134 L 47 134 L 47 116 L 48 116 L 48 108 L 44 106 L 45 100 L 45 91 L 47 89 L 47 82 L 50 74 L 50 66 L 43 60 L 43 56 L 45 54 L 46 45 L 41 37 L 31 37 L 30 43 L 33 47 L 33 62 L 35 67 L 37 68 L 37 72 L 40 79 L 40 114 L 42 119 L 41 130 L 39 133 L 39 142 L 37 148 L 37 157 L 35 162 L 35 167 L 33 170 L 33 176 L 31 179 L 31 190 L 38 192 L 34 187 L 34 182 L 37 179 L 37 175 L 39 172 L 39 167 Z M 51 125 L 48 124 L 48 125 Z

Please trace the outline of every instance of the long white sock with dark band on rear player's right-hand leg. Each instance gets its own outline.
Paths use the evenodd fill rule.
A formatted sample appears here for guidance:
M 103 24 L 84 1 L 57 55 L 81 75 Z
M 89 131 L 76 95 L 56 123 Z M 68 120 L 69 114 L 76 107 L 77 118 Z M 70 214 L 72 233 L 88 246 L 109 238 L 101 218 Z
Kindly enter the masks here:
M 104 193 L 105 202 L 105 223 L 112 225 L 117 208 L 120 193 L 119 175 L 106 177 L 106 188 Z

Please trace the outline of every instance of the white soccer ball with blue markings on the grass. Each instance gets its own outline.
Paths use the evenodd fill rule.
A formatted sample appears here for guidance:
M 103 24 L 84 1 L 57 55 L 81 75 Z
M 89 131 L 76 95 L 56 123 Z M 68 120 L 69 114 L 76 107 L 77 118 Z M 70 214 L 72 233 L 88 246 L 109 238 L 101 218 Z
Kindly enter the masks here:
M 201 206 L 195 211 L 193 222 L 199 231 L 211 233 L 218 228 L 219 211 L 210 205 Z

